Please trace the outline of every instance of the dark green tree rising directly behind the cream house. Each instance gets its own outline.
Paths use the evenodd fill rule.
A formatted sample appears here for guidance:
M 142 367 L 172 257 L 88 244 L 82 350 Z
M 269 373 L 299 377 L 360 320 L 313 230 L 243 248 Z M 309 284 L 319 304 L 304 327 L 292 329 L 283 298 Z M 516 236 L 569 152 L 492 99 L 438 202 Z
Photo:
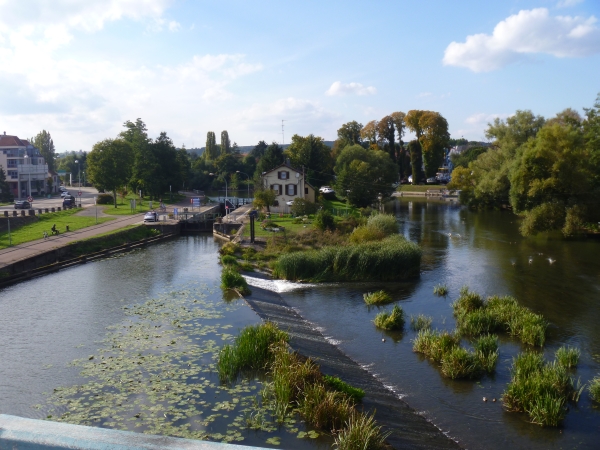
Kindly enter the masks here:
M 285 154 L 290 158 L 292 166 L 304 167 L 309 183 L 320 186 L 331 179 L 331 149 L 325 145 L 323 138 L 313 134 L 306 137 L 295 134 Z

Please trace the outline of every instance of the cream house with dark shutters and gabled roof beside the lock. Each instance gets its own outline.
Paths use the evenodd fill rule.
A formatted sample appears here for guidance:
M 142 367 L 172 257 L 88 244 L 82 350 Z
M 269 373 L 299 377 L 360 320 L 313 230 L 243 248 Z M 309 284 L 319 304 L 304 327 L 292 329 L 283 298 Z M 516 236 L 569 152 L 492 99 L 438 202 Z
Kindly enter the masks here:
M 263 186 L 276 192 L 273 212 L 287 212 L 287 202 L 300 197 L 305 200 L 315 201 L 315 188 L 312 187 L 301 170 L 295 169 L 289 163 L 283 163 L 261 175 Z

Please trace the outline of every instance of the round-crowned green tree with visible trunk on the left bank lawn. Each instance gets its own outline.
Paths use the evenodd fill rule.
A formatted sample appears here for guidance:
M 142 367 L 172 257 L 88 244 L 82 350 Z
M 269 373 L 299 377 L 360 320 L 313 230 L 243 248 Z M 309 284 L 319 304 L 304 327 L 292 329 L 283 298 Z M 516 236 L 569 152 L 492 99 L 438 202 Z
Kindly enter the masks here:
M 113 192 L 117 207 L 117 190 L 131 177 L 133 149 L 125 139 L 105 139 L 94 144 L 88 157 L 88 177 L 99 189 Z

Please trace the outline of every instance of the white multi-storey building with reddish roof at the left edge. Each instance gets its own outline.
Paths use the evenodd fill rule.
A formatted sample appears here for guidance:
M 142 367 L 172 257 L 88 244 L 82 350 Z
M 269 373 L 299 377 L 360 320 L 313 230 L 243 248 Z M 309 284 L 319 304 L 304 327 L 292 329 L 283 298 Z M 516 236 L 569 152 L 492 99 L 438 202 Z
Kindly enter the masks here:
M 48 164 L 29 141 L 0 134 L 0 167 L 15 198 L 46 193 Z

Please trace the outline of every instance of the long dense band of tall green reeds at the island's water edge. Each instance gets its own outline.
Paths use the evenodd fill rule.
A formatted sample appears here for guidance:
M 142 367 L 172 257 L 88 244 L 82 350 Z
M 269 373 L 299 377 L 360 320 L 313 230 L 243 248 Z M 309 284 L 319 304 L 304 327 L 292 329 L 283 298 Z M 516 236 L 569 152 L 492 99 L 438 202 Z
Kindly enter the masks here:
M 421 250 L 395 235 L 378 242 L 323 247 L 282 254 L 273 275 L 303 281 L 394 281 L 417 277 Z

